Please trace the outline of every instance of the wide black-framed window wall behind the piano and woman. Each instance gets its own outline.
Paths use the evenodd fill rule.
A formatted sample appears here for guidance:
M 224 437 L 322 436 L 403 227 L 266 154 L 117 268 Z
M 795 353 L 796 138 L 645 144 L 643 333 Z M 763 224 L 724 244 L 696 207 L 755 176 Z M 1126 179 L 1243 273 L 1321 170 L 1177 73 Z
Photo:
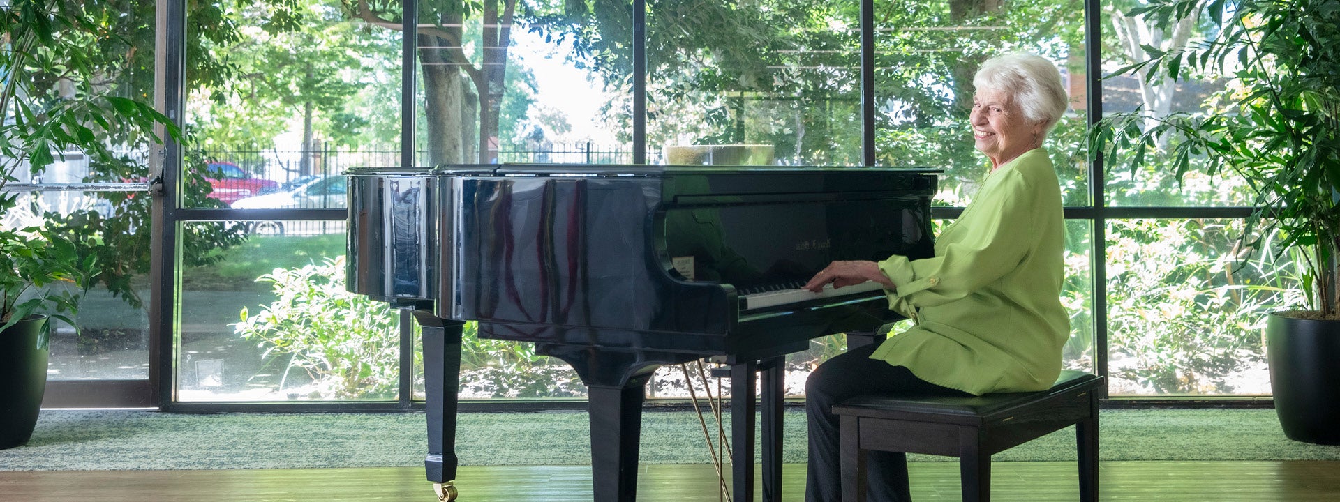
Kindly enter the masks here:
M 1202 36 L 1195 19 L 1150 25 L 1123 15 L 1134 4 L 1107 0 L 671 0 L 646 3 L 639 25 L 630 12 L 642 5 L 419 3 L 417 23 L 405 23 L 395 1 L 188 12 L 196 32 L 229 35 L 186 43 L 193 139 L 173 166 L 182 175 L 166 178 L 172 253 L 158 262 L 180 284 L 158 320 L 173 337 L 170 399 L 406 408 L 422 396 L 410 316 L 366 299 L 297 295 L 303 281 L 339 278 L 348 169 L 872 158 L 942 169 L 941 225 L 986 174 L 967 127 L 972 75 L 1013 51 L 1055 62 L 1072 96 L 1047 142 L 1069 218 L 1065 365 L 1111 376 L 1118 396 L 1268 392 L 1260 313 L 1297 296 L 1276 288 L 1296 270 L 1238 246 L 1244 186 L 1203 173 L 1178 145 L 1148 151 L 1134 169 L 1104 170 L 1085 149 L 1097 106 L 1147 110 L 1155 122 L 1210 110 L 1231 91 L 1223 75 L 1104 78 L 1143 58 L 1142 47 Z M 1085 7 L 1101 21 L 1085 19 Z M 417 31 L 410 40 L 401 36 L 407 25 Z M 414 147 L 402 154 L 406 139 Z M 119 301 L 88 301 L 103 300 Z M 368 321 L 320 324 L 352 313 Z M 135 317 L 143 315 L 117 319 L 151 323 Z M 111 339 L 134 337 L 103 324 Z M 113 344 L 94 349 L 103 347 Z M 792 355 L 788 390 L 799 394 L 805 372 L 844 348 L 829 336 Z M 529 344 L 480 340 L 469 324 L 462 363 L 468 399 L 584 391 L 565 364 Z M 92 367 L 63 364 L 66 375 Z M 679 368 L 662 368 L 649 395 L 682 398 L 687 388 Z

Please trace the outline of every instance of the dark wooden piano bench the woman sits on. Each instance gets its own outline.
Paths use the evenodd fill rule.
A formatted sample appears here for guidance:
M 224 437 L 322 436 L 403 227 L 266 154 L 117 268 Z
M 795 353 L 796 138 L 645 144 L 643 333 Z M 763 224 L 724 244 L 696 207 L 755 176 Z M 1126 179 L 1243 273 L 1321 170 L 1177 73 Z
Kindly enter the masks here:
M 1067 369 L 1051 390 L 1038 392 L 848 399 L 833 406 L 833 412 L 842 418 L 843 502 L 866 501 L 866 451 L 870 450 L 958 456 L 963 501 L 990 501 L 993 454 L 1072 424 L 1076 426 L 1080 501 L 1097 502 L 1097 395 L 1101 386 L 1100 376 Z

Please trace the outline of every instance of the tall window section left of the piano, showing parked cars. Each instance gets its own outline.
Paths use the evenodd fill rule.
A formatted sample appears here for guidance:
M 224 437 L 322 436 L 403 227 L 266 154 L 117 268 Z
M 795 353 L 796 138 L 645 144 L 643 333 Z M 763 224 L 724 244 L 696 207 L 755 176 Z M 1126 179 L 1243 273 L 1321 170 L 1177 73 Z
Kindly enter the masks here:
M 209 35 L 186 44 L 193 135 L 166 178 L 162 399 L 407 402 L 398 313 L 343 286 L 344 171 L 401 162 L 398 12 L 368 23 L 311 0 L 185 17 Z

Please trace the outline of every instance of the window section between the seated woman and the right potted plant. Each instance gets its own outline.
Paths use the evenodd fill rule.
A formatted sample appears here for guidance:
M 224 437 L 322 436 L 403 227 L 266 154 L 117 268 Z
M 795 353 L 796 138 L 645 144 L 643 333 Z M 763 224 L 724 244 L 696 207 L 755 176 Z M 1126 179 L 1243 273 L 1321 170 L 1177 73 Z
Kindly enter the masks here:
M 1197 9 L 1179 19 L 1130 16 L 1131 3 L 1103 1 L 1103 110 L 1139 112 L 1130 127 L 1172 115 L 1205 116 L 1235 92 L 1231 75 L 1147 79 L 1112 75 L 1152 51 L 1215 36 Z M 1177 141 L 1123 149 L 1107 158 L 1106 325 L 1112 395 L 1265 395 L 1265 313 L 1298 304 L 1297 269 L 1270 236 L 1240 237 L 1250 203 L 1234 173 L 1210 173 L 1203 153 Z M 1253 253 L 1245 242 L 1266 245 Z

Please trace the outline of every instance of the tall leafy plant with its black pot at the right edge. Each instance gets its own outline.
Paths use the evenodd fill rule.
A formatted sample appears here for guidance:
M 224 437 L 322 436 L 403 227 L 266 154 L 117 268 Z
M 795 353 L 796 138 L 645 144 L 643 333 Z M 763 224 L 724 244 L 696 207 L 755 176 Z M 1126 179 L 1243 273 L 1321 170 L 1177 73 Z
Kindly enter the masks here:
M 1203 11 L 1201 11 L 1203 7 Z M 1110 165 L 1168 155 L 1181 181 L 1191 162 L 1238 175 L 1254 194 L 1244 242 L 1302 264 L 1308 305 L 1269 313 L 1274 406 L 1292 439 L 1340 443 L 1340 0 L 1154 0 L 1130 12 L 1154 24 L 1207 16 L 1207 40 L 1158 50 L 1116 74 L 1147 80 L 1229 78 L 1222 106 L 1197 114 L 1115 114 L 1091 133 Z

